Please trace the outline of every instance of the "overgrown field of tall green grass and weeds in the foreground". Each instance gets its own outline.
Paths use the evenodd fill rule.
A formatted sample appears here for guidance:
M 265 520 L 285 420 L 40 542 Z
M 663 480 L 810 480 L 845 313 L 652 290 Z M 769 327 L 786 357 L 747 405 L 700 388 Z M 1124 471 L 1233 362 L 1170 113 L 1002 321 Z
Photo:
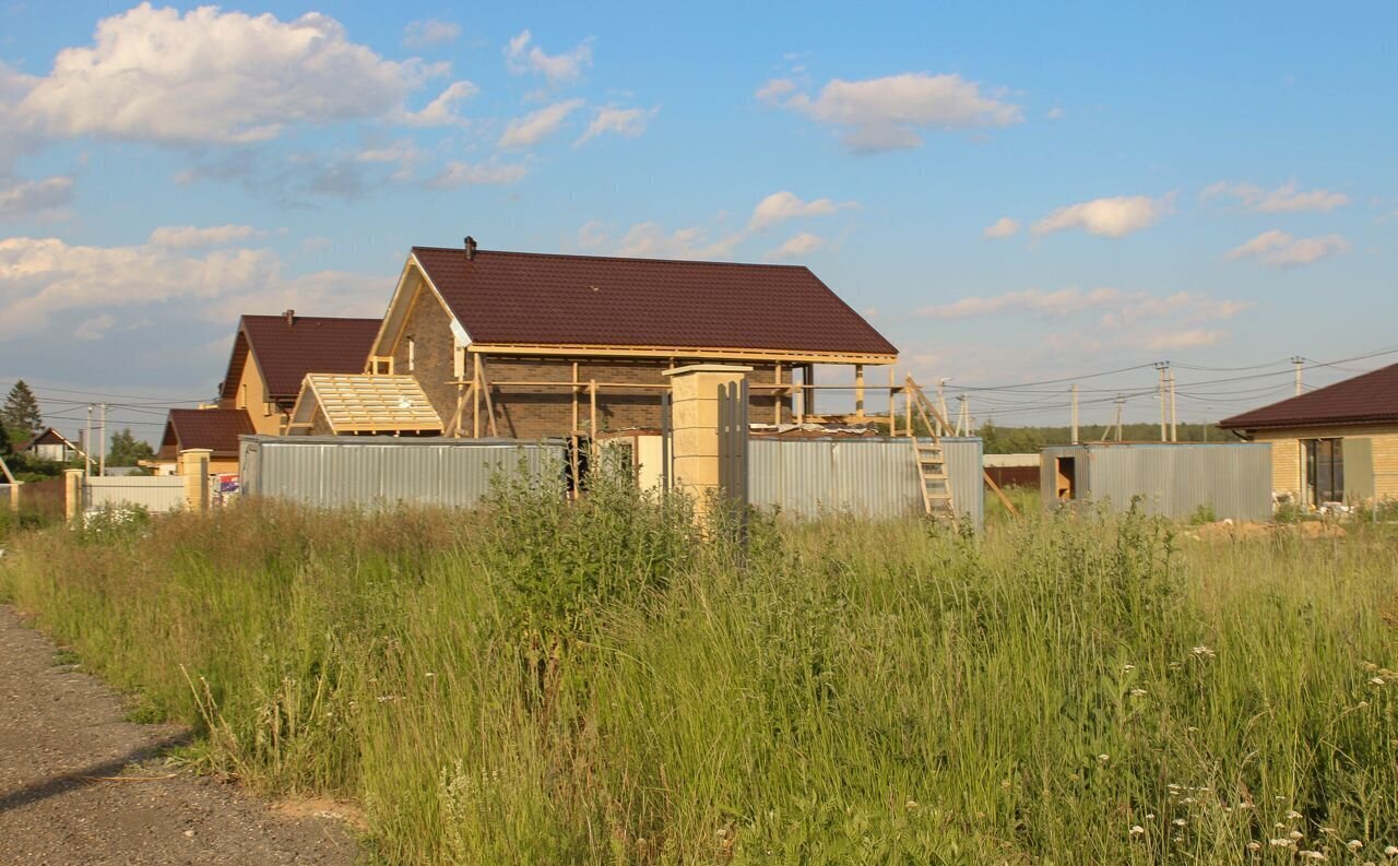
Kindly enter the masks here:
M 0 598 L 352 799 L 383 863 L 1387 862 L 1398 536 L 1138 517 L 763 518 L 748 550 L 568 507 L 243 504 L 13 539 Z

